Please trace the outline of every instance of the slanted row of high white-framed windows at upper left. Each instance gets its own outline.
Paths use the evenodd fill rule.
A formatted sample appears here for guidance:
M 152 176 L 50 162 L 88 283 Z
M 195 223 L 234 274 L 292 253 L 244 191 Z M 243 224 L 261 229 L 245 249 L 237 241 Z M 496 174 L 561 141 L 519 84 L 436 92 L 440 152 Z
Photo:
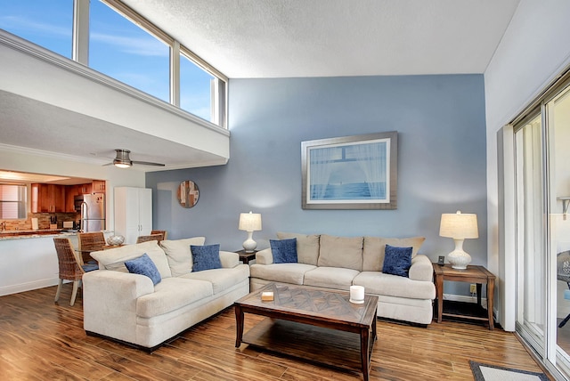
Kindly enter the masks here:
M 118 0 L 0 0 L 0 28 L 226 127 L 227 77 Z

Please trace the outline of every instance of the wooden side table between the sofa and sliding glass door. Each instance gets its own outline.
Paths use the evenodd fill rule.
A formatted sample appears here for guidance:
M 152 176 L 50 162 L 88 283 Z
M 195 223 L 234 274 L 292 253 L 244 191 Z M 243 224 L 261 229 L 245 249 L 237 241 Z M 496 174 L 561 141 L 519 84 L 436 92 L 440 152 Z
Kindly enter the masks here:
M 456 270 L 451 264 L 437 264 L 434 266 L 434 283 L 436 284 L 437 322 L 441 323 L 442 316 L 451 316 L 464 319 L 484 320 L 489 322 L 489 329 L 493 330 L 493 296 L 495 289 L 495 276 L 484 266 L 468 265 L 467 270 Z M 444 280 L 475 283 L 477 290 L 477 305 L 481 306 L 481 288 L 487 285 L 487 317 L 463 315 L 455 312 L 444 312 Z

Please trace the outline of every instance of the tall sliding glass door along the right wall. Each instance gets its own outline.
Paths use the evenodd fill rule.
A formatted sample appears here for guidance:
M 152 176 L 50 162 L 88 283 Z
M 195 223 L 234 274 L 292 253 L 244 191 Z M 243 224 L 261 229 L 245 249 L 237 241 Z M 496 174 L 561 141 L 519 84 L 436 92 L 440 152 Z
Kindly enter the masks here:
M 555 89 L 556 90 L 556 89 Z M 517 332 L 570 377 L 570 86 L 515 126 Z

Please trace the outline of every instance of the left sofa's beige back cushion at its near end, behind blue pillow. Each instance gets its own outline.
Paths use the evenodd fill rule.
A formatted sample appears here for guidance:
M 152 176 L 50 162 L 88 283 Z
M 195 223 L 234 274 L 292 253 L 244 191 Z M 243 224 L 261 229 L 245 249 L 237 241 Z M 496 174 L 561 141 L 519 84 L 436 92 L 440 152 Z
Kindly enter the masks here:
M 94 251 L 91 253 L 91 256 L 99 263 L 99 268 L 116 272 L 128 272 L 125 262 L 145 253 L 149 255 L 154 265 L 157 266 L 162 279 L 172 276 L 167 256 L 164 255 L 164 251 L 159 247 L 159 243 L 156 240 Z

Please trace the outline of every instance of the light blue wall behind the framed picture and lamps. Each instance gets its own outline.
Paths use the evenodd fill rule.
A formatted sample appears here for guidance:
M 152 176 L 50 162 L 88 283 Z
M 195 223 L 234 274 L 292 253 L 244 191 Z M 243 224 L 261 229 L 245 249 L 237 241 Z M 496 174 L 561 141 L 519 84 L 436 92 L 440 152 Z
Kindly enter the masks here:
M 231 158 L 226 166 L 149 173 L 154 227 L 173 239 L 204 235 L 238 250 L 240 212 L 261 213 L 257 246 L 277 231 L 425 236 L 436 261 L 453 249 L 442 213 L 476 213 L 479 239 L 464 248 L 486 264 L 485 95 L 482 75 L 233 79 Z M 396 210 L 303 210 L 301 142 L 397 131 Z M 199 185 L 196 207 L 175 200 L 179 182 Z M 447 290 L 446 290 L 447 291 Z

